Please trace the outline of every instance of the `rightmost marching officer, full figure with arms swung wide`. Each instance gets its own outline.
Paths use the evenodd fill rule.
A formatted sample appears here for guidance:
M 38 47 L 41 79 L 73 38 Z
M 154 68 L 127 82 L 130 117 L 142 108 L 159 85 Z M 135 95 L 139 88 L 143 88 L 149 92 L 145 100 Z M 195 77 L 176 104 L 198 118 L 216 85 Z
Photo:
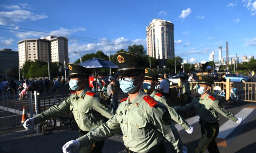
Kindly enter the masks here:
M 199 140 L 195 153 L 202 153 L 206 149 L 210 153 L 219 153 L 215 138 L 219 133 L 219 117 L 218 113 L 236 123 L 241 123 L 242 118 L 236 118 L 232 113 L 225 110 L 221 103 L 212 97 L 210 93 L 211 85 L 214 83 L 210 78 L 204 75 L 197 76 L 198 85 L 197 92 L 200 94 L 186 106 L 177 108 L 178 113 L 188 110 L 197 109 L 200 117 L 202 138 Z

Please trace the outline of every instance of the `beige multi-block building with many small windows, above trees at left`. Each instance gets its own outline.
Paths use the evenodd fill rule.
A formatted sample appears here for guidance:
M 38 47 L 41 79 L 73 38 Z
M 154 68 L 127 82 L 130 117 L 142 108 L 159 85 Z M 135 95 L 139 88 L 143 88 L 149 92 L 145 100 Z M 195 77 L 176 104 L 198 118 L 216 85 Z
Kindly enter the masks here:
M 19 66 L 22 68 L 27 60 L 59 62 L 64 64 L 68 59 L 68 39 L 60 36 L 47 36 L 40 39 L 23 39 L 18 42 Z

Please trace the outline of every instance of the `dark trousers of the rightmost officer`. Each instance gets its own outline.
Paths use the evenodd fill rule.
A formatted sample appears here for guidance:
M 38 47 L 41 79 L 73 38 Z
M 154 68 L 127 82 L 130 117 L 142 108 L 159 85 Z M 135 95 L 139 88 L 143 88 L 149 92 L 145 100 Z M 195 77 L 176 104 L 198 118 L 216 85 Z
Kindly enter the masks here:
M 202 137 L 199 140 L 195 153 L 203 153 L 208 149 L 209 153 L 219 153 L 219 149 L 215 138 L 219 134 L 219 123 L 207 123 L 204 121 L 199 121 L 201 125 Z

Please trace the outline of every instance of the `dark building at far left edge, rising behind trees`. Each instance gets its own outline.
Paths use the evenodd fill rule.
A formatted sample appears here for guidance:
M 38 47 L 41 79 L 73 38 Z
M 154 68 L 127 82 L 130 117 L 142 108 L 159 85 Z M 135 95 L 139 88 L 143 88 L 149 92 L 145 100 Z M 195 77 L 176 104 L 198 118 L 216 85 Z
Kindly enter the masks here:
M 18 51 L 12 51 L 11 49 L 0 50 L 0 73 L 4 73 L 6 70 L 11 70 L 19 66 L 19 54 Z

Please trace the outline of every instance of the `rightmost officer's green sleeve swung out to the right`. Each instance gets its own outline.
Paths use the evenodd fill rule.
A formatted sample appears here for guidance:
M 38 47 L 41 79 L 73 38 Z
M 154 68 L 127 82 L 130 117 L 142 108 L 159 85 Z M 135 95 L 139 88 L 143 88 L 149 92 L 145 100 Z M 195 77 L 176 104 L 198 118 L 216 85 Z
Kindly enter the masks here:
M 237 121 L 237 118 L 234 117 L 234 115 L 232 113 L 230 113 L 229 111 L 225 110 L 218 100 L 213 101 L 211 107 L 212 107 L 213 110 L 215 110 L 218 113 L 222 114 L 226 118 L 231 119 L 234 122 Z

